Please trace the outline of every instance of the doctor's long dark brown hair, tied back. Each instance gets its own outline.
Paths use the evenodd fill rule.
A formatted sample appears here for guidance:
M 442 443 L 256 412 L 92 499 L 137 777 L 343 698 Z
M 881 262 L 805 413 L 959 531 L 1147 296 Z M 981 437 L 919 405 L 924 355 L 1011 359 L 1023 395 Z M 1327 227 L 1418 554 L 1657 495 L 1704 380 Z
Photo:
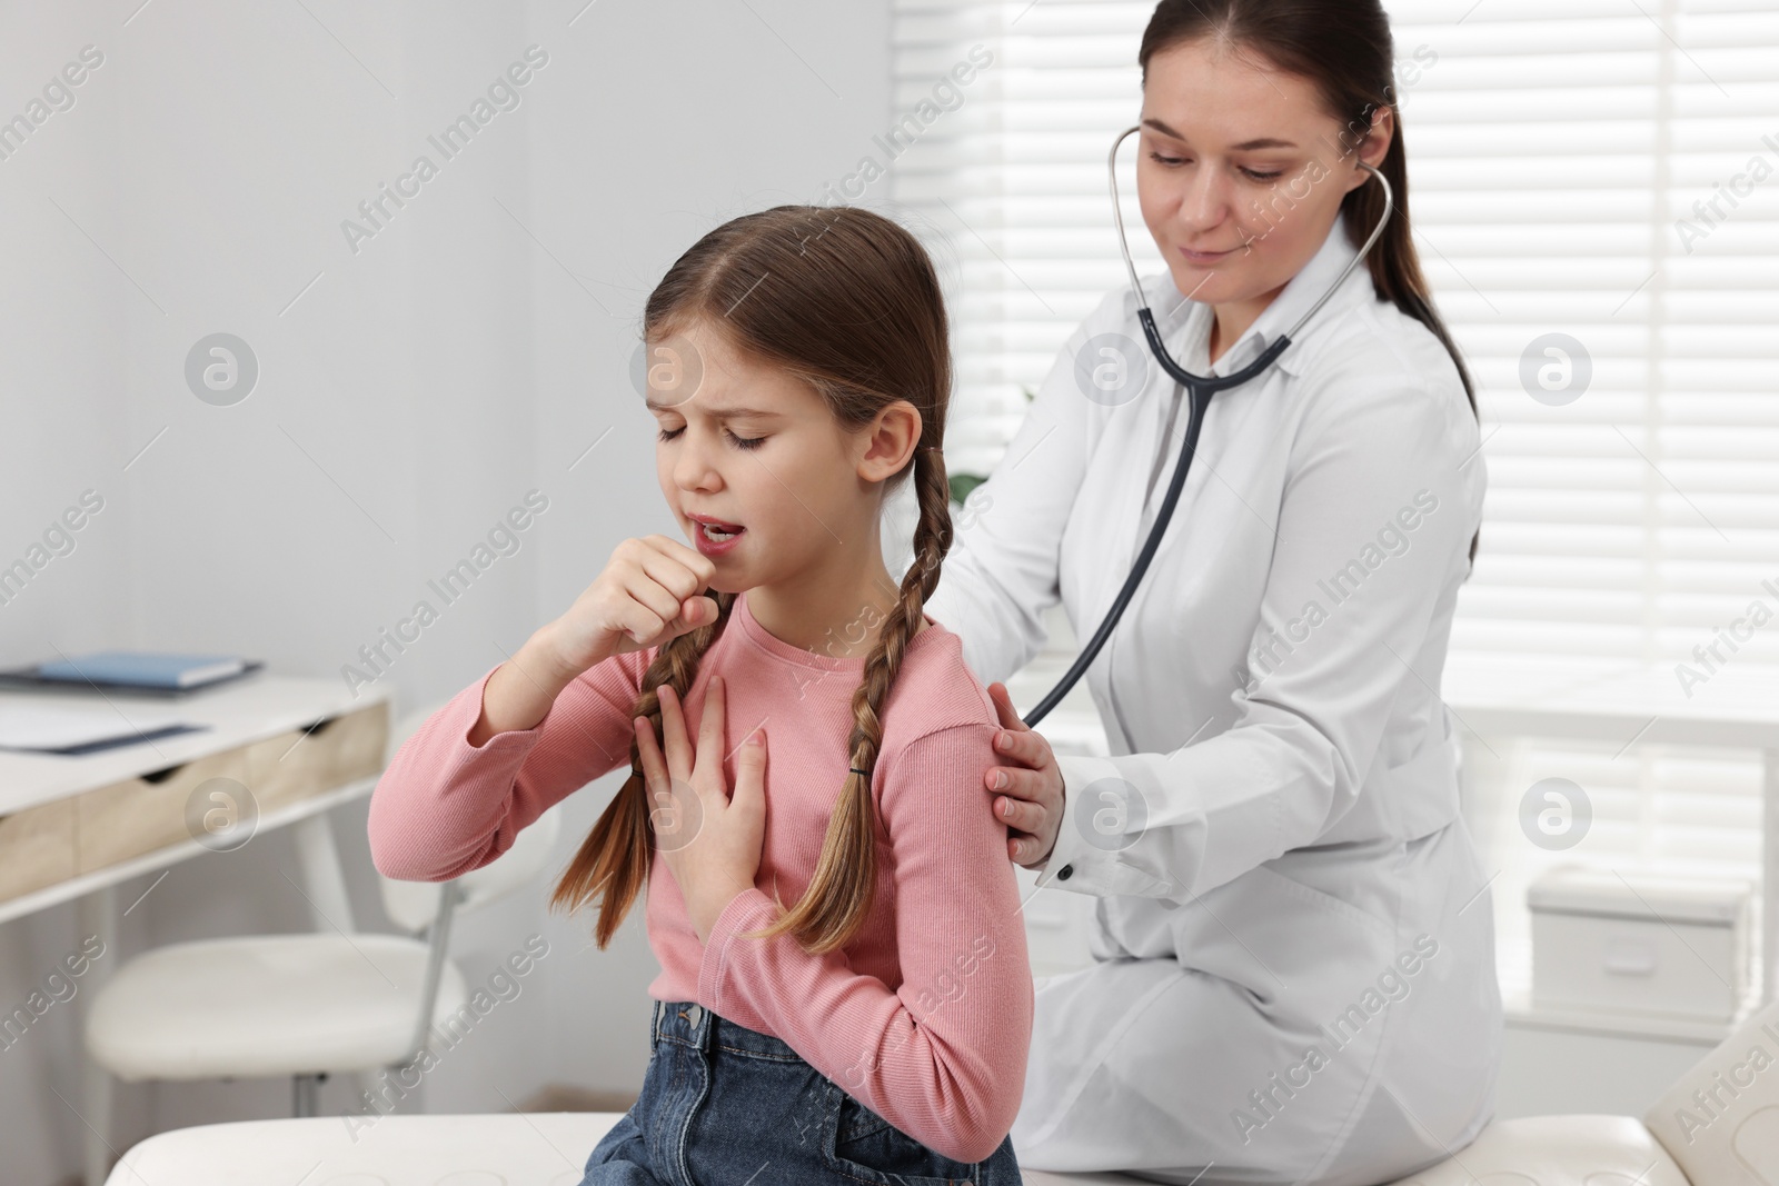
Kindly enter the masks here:
M 1469 411 L 1477 414 L 1477 389 L 1469 370 L 1434 309 L 1409 231 L 1407 148 L 1391 71 L 1395 41 L 1384 9 L 1377 0 L 1162 0 L 1155 5 L 1137 50 L 1144 82 L 1149 78 L 1149 59 L 1201 37 L 1267 59 L 1277 69 L 1315 84 L 1324 108 L 1343 126 L 1341 151 L 1357 148 L 1372 126 L 1373 110 L 1389 108 L 1389 149 L 1377 169 L 1389 181 L 1397 210 L 1364 263 L 1372 270 L 1372 288 L 1379 301 L 1389 301 L 1439 338 L 1457 366 Z M 1340 212 L 1347 240 L 1356 249 L 1363 247 L 1384 213 L 1384 194 L 1377 185 L 1361 185 L 1348 190 Z M 1478 532 L 1469 541 L 1471 564 L 1477 562 L 1480 535 Z

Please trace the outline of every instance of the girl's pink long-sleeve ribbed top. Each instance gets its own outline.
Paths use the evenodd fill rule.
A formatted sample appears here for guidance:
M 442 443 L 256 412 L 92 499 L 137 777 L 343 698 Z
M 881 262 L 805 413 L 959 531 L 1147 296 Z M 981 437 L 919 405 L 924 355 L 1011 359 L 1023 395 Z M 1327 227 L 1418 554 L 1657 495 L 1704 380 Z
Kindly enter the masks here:
M 795 903 L 815 871 L 847 777 L 863 658 L 818 654 L 770 633 L 737 597 L 685 695 L 696 745 L 710 677 L 728 697 L 724 775 L 767 727 L 767 829 L 754 887 L 692 930 L 656 853 L 646 923 L 660 1001 L 704 1008 L 786 1042 L 854 1099 L 923 1145 L 982 1161 L 1012 1129 L 1032 1040 L 1032 973 L 1007 830 L 982 775 L 1000 765 L 994 704 L 961 638 L 927 619 L 882 708 L 872 795 L 882 832 L 877 889 L 850 944 L 809 955 L 790 935 L 747 939 Z M 370 800 L 370 850 L 386 877 L 438 882 L 477 869 L 587 782 L 628 768 L 632 709 L 656 647 L 596 663 L 532 729 L 470 745 L 493 669 L 400 747 Z

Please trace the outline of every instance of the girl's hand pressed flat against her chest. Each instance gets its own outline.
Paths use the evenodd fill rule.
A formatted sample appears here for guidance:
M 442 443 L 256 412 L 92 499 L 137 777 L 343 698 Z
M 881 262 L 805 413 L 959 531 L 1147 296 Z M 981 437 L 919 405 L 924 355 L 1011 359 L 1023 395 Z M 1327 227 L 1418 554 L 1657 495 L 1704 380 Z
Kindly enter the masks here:
M 697 941 L 706 942 L 722 910 L 753 889 L 765 843 L 765 729 L 754 729 L 735 754 L 735 795 L 722 759 L 728 752 L 722 677 L 712 676 L 697 749 L 685 731 L 685 713 L 671 685 L 656 688 L 662 745 L 648 717 L 637 717 L 637 749 L 649 798 L 655 848 L 667 862 Z

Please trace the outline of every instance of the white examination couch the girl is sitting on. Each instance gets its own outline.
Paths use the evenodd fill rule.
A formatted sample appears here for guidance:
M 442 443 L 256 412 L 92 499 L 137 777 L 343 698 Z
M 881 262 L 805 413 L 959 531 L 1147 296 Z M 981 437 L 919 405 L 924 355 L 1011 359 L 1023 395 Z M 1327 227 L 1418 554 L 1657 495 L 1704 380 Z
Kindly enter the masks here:
M 247 1120 L 137 1143 L 107 1186 L 575 1186 L 617 1113 Z M 1030 1186 L 1131 1184 L 1123 1174 L 1025 1170 Z M 1635 1117 L 1498 1120 L 1398 1186 L 1779 1186 L 1779 1003 L 1749 1017 Z

